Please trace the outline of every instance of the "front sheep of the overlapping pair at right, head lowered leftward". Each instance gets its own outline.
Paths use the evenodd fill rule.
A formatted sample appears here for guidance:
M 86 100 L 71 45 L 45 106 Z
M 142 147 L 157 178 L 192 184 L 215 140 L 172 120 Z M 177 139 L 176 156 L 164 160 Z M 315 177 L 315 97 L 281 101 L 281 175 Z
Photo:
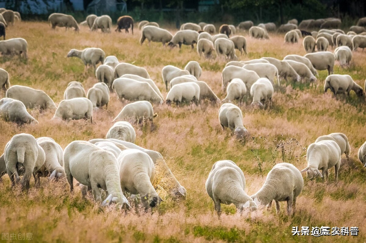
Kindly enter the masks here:
M 341 149 L 333 140 L 322 140 L 312 143 L 306 152 L 307 167 L 301 171 L 306 172 L 306 176 L 314 178 L 319 175 L 323 182 L 324 177 L 328 177 L 328 169 L 334 166 L 335 181 L 337 182 L 338 170 L 341 164 Z M 319 170 L 322 170 L 320 173 Z

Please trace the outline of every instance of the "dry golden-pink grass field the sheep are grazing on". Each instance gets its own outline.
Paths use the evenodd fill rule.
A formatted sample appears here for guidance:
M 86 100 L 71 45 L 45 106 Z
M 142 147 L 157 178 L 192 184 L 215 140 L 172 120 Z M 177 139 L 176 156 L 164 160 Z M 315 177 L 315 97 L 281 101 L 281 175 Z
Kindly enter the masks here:
M 113 29 L 114 30 L 114 29 Z M 172 32 L 175 32 L 175 30 Z M 66 58 L 70 49 L 100 47 L 106 55 L 116 55 L 121 62 L 145 67 L 150 77 L 166 96 L 161 79 L 165 65 L 183 68 L 188 61 L 198 61 L 203 69 L 201 80 L 206 81 L 220 99 L 221 71 L 224 59 L 205 60 L 190 46 L 182 50 L 165 49 L 161 43 L 140 46 L 140 32 L 135 34 L 102 34 L 81 27 L 79 34 L 64 28 L 51 30 L 47 23 L 22 22 L 7 29 L 7 38 L 22 37 L 28 42 L 29 60 L 0 57 L 1 68 L 10 74 L 11 85 L 26 85 L 42 89 L 59 104 L 68 82 L 80 81 L 89 89 L 96 83 L 92 68 L 84 72 L 80 59 Z M 287 54 L 304 55 L 302 44 L 284 44 L 283 35 L 270 34 L 270 40 L 254 40 L 247 36 L 248 60 L 260 57 L 282 59 Z M 302 39 L 301 39 L 302 41 Z M 331 50 L 333 51 L 333 50 Z M 363 87 L 366 78 L 366 53 L 353 53 L 351 66 L 335 73 L 350 74 Z M 77 188 L 69 193 L 66 182 L 49 182 L 41 178 L 41 188 L 22 192 L 12 190 L 7 175 L 0 183 L 0 232 L 31 233 L 36 242 L 365 242 L 366 228 L 366 170 L 358 161 L 358 148 L 365 142 L 366 104 L 351 92 L 350 97 L 337 99 L 323 95 L 327 71 L 320 71 L 315 85 L 282 83 L 273 97 L 273 107 L 254 110 L 242 105 L 244 126 L 253 139 L 245 144 L 235 141 L 229 130 L 223 131 L 218 120 L 219 104 L 203 101 L 201 105 L 172 107 L 156 105 L 155 128 L 134 125 L 136 144 L 160 152 L 173 174 L 187 189 L 185 200 L 166 198 L 152 213 L 124 213 L 115 207 L 100 207 L 93 200 L 82 200 Z M 4 97 L 1 92 L 0 97 Z M 111 94 L 108 109 L 94 111 L 93 121 L 69 123 L 51 121 L 53 113 L 30 110 L 39 124 L 16 126 L 0 121 L 0 149 L 21 132 L 33 136 L 50 136 L 65 148 L 73 140 L 104 138 L 113 118 L 127 101 L 119 101 Z M 218 219 L 213 202 L 205 190 L 205 181 L 214 162 L 230 159 L 244 171 L 246 192 L 251 195 L 261 188 L 266 174 L 274 163 L 290 162 L 298 169 L 306 167 L 306 147 L 320 135 L 343 132 L 351 145 L 351 162 L 341 165 L 339 182 L 334 182 L 334 169 L 329 182 L 310 181 L 296 203 L 295 215 L 281 213 L 275 207 L 268 212 L 264 207 L 256 212 L 236 213 L 233 205 L 223 205 Z M 344 155 L 343 155 L 344 158 Z M 260 169 L 258 166 L 258 161 Z M 293 226 L 359 227 L 359 236 L 292 236 Z M 9 236 L 10 237 L 10 236 Z M 22 241 L 17 238 L 16 241 Z

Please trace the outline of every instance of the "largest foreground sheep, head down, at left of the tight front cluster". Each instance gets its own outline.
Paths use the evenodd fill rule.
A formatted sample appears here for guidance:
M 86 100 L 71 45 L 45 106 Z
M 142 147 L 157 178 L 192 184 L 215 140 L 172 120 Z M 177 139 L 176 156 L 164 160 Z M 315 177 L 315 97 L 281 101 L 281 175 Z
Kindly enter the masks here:
M 94 200 L 103 206 L 115 202 L 130 208 L 121 190 L 117 159 L 111 152 L 89 142 L 76 140 L 65 148 L 64 167 L 70 192 L 74 190 L 75 177 L 82 185 L 91 187 Z M 108 195 L 103 202 L 99 188 Z

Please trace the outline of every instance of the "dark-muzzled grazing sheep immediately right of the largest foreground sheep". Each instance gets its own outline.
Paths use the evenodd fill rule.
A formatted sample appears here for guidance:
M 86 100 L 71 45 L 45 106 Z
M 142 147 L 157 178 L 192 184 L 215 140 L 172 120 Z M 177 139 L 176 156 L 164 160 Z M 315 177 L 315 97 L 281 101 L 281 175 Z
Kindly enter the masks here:
M 130 148 L 122 151 L 118 163 L 122 192 L 140 194 L 145 210 L 159 206 L 163 200 L 152 185 L 155 166 L 149 155 Z

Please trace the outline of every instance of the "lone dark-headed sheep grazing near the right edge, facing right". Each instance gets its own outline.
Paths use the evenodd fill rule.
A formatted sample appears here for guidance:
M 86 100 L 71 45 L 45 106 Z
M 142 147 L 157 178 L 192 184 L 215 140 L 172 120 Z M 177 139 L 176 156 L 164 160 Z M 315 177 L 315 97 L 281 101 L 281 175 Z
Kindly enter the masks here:
M 347 95 L 350 95 L 350 91 L 353 90 L 357 96 L 363 96 L 363 89 L 361 86 L 356 84 L 351 76 L 345 74 L 332 74 L 326 77 L 324 82 L 324 93 L 326 93 L 330 89 L 334 95 L 336 94 L 344 94 L 347 92 Z

